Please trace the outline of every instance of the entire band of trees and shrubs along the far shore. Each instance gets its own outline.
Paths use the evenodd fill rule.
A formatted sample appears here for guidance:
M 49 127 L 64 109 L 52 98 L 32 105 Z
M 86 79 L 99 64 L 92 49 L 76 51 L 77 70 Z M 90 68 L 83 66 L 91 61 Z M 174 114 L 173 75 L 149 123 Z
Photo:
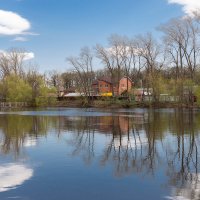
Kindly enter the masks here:
M 71 70 L 62 73 L 56 69 L 39 73 L 24 59 L 22 50 L 1 52 L 1 101 L 45 105 L 55 103 L 61 92 L 73 90 L 83 94 L 83 105 L 91 105 L 93 81 L 107 76 L 114 85 L 125 76 L 133 82 L 132 91 L 123 94 L 126 104 L 133 105 L 137 100 L 140 104 L 159 105 L 175 99 L 170 100 L 174 105 L 200 105 L 200 14 L 172 19 L 160 25 L 158 31 L 159 38 L 151 33 L 134 38 L 111 35 L 106 47 L 85 47 L 78 56 L 67 57 Z M 139 100 L 132 98 L 137 88 L 142 90 Z M 107 103 L 123 104 L 113 91 Z M 163 96 L 167 96 L 164 101 Z

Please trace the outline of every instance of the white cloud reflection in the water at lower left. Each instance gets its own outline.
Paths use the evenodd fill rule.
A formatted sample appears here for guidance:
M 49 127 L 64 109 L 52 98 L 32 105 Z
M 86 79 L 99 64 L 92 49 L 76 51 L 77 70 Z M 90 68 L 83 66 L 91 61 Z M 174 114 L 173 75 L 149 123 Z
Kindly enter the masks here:
M 33 176 L 33 169 L 20 164 L 0 167 L 0 192 L 15 189 Z

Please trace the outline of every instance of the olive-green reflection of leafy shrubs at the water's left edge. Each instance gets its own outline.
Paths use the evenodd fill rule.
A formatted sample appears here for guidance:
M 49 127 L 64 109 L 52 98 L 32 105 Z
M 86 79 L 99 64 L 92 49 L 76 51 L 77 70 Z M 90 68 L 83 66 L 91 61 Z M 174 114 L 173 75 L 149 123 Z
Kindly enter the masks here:
M 57 118 L 2 115 L 0 116 L 1 153 L 13 153 L 15 157 L 23 156 L 22 147 L 36 145 L 37 138 L 45 136 L 51 126 L 57 123 Z

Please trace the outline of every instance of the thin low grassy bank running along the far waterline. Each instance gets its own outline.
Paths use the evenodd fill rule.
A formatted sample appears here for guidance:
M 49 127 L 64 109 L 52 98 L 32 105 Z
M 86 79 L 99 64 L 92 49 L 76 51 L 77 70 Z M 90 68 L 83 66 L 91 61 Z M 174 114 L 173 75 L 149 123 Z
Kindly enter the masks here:
M 135 102 L 125 99 L 91 100 L 71 99 L 56 101 L 40 101 L 38 104 L 30 103 L 0 103 L 0 109 L 7 108 L 40 108 L 40 107 L 70 107 L 70 108 L 198 108 L 197 104 L 189 105 L 178 102 Z

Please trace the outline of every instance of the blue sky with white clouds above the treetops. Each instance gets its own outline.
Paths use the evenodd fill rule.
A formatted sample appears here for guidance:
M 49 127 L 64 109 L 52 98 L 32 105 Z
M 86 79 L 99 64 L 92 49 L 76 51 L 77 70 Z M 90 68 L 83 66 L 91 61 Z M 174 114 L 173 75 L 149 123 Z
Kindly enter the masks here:
M 134 37 L 171 18 L 191 15 L 200 0 L 0 0 L 0 51 L 21 48 L 40 71 L 66 71 L 66 57 L 107 45 L 112 34 Z

